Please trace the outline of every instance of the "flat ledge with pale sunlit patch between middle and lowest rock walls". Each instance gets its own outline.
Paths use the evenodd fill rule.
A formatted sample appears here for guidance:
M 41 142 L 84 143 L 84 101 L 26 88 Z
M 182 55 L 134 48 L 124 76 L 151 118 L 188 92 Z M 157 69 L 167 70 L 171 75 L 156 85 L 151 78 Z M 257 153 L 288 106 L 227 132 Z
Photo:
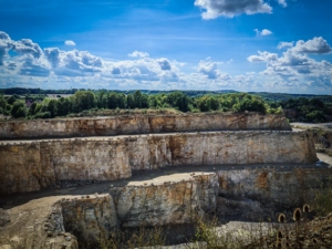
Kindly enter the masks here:
M 332 167 L 332 157 L 318 153 L 318 158 L 323 162 L 319 167 Z M 37 193 L 15 194 L 10 196 L 0 197 L 0 208 L 10 209 L 19 205 L 29 203 L 30 200 L 43 198 L 43 197 L 55 197 L 64 195 L 93 195 L 95 193 L 103 194 L 108 193 L 111 185 L 113 186 L 125 186 L 125 185 L 144 185 L 154 184 L 159 185 L 164 181 L 180 181 L 183 179 L 190 178 L 191 174 L 196 175 L 215 173 L 218 170 L 241 170 L 251 168 L 274 168 L 276 170 L 292 170 L 294 168 L 317 168 L 315 164 L 251 164 L 251 165 L 212 165 L 212 166 L 181 166 L 181 167 L 168 167 L 157 170 L 144 170 L 133 172 L 133 176 L 128 179 L 121 180 L 107 180 L 98 183 L 64 183 L 65 187 L 58 189 L 45 189 Z

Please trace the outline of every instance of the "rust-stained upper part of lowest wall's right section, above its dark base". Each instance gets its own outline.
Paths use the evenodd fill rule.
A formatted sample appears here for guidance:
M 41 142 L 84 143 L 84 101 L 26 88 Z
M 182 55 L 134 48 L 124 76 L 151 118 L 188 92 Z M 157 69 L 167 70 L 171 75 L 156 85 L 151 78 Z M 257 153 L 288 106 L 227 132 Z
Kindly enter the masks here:
M 331 186 L 331 169 L 286 167 L 218 172 L 219 194 L 226 198 L 245 197 L 273 205 L 312 204 L 314 195 Z M 267 201 L 268 200 L 268 201 Z

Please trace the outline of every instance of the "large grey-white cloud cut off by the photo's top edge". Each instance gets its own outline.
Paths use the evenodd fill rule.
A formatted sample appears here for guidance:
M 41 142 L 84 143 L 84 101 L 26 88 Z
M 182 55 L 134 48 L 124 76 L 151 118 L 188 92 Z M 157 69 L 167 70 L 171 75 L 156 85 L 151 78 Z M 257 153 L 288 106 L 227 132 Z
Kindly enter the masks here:
M 272 12 L 272 8 L 263 0 L 196 0 L 195 6 L 205 10 L 203 19 Z

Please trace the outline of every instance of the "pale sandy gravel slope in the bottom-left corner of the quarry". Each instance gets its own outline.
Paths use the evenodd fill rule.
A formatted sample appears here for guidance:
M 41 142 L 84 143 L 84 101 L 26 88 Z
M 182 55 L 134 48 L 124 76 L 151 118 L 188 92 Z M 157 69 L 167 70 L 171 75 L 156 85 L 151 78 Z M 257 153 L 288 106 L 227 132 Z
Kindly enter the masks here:
M 31 200 L 9 209 L 10 222 L 0 227 L 0 248 L 76 249 L 75 236 L 64 231 L 59 198 Z

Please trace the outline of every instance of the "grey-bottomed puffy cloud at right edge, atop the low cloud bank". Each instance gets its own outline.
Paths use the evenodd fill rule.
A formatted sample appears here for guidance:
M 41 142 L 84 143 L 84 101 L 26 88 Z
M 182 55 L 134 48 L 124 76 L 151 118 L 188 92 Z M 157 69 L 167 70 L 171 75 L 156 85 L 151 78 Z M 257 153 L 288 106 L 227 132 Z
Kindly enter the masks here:
M 292 48 L 293 52 L 297 53 L 331 53 L 332 49 L 323 38 L 313 38 L 304 42 L 300 40 L 297 44 Z

